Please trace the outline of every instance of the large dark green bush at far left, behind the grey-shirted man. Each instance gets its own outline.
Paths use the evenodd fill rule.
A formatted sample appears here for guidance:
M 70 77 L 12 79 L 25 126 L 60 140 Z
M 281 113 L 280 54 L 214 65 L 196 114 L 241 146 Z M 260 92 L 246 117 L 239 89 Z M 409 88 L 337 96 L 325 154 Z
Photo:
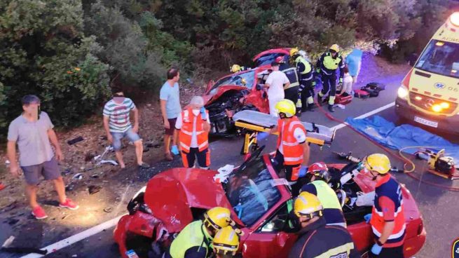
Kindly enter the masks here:
M 109 67 L 82 27 L 78 1 L 0 2 L 0 138 L 21 114 L 23 95 L 41 97 L 43 111 L 64 127 L 100 111 Z

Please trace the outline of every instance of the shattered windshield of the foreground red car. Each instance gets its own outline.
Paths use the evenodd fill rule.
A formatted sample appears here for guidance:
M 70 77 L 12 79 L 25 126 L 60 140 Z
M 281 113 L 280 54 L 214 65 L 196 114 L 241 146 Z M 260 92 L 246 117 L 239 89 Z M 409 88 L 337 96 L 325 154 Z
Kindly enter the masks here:
M 228 179 L 226 196 L 239 219 L 245 225 L 252 226 L 278 203 L 280 191 L 273 184 L 273 177 L 259 157 Z

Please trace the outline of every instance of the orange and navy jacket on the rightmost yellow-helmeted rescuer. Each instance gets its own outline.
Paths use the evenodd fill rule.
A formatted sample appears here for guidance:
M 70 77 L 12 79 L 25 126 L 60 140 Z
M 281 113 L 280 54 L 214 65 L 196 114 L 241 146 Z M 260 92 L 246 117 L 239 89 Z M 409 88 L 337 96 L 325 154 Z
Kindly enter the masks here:
M 385 208 L 381 207 L 379 204 L 379 198 L 382 198 L 383 196 L 390 198 L 390 200 L 395 204 L 395 214 L 393 220 L 395 222 L 395 226 L 384 246 L 397 247 L 403 245 L 406 225 L 403 208 L 402 187 L 390 175 L 383 177 L 379 182 L 376 183 L 375 200 L 370 221 L 371 229 L 373 230 L 376 239 L 381 237 L 381 233 L 383 233 L 385 224 L 383 214 L 383 210 Z

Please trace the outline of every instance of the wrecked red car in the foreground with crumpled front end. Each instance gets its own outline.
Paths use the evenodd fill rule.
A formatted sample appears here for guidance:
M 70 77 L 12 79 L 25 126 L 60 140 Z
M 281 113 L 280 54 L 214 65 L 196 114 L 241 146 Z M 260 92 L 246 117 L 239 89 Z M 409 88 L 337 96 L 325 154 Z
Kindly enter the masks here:
M 127 250 L 134 250 L 139 257 L 158 257 L 181 229 L 202 219 L 203 213 L 215 206 L 230 209 L 236 226 L 244 231 L 240 239 L 242 257 L 287 257 L 297 238 L 289 226 L 292 195 L 273 162 L 269 155 L 254 155 L 234 170 L 226 183 L 214 182 L 216 171 L 193 168 L 173 168 L 154 176 L 146 189 L 132 198 L 129 215 L 122 217 L 114 230 L 122 257 L 127 257 Z M 339 180 L 355 165 L 329 164 L 329 168 L 332 180 Z M 371 177 L 358 173 L 338 190 L 348 230 L 362 254 L 372 244 L 371 226 L 364 222 L 371 207 L 357 206 L 349 200 L 359 191 L 374 191 L 374 185 Z M 402 191 L 404 254 L 411 257 L 423 247 L 426 233 L 413 196 L 404 186 Z

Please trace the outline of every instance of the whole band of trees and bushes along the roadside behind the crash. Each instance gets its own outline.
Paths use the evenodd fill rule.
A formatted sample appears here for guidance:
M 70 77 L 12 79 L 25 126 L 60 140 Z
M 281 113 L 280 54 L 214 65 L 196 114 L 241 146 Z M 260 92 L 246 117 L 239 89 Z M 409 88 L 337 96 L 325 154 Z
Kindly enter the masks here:
M 36 94 L 57 125 L 82 123 L 109 86 L 158 90 L 182 78 L 251 65 L 262 50 L 298 46 L 314 59 L 332 43 L 382 46 L 392 61 L 420 52 L 451 0 L 0 1 L 0 135 Z M 83 100 L 83 101 L 82 101 Z

